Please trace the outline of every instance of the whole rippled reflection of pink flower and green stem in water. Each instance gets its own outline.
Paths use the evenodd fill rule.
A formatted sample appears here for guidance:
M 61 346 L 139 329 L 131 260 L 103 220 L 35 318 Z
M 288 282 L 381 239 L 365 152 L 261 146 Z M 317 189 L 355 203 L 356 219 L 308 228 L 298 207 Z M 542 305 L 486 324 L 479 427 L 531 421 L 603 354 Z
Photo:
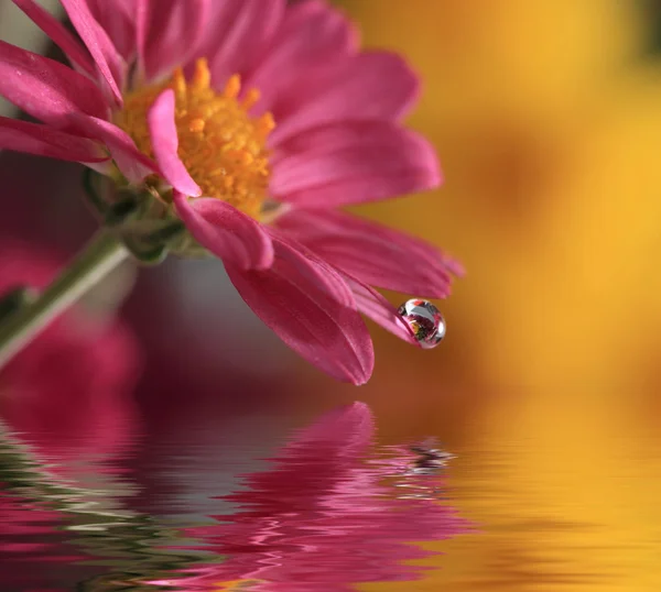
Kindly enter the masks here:
M 377 448 L 372 435 L 364 404 L 323 416 L 245 490 L 217 497 L 234 513 L 191 526 L 193 514 L 175 525 L 138 512 L 128 475 L 98 467 L 104 479 L 80 486 L 0 429 L 2 592 L 334 592 L 415 579 L 424 568 L 403 562 L 429 552 L 410 542 L 467 528 L 440 501 L 447 456 L 427 442 Z

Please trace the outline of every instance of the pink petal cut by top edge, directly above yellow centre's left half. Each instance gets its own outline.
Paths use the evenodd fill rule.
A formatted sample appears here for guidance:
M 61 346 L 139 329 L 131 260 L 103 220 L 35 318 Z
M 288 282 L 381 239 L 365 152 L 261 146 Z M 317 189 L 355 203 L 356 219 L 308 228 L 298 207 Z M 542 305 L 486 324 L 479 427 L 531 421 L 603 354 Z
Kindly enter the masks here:
M 159 0 L 147 3 L 140 32 L 141 68 L 147 80 L 170 74 L 195 55 L 214 0 Z

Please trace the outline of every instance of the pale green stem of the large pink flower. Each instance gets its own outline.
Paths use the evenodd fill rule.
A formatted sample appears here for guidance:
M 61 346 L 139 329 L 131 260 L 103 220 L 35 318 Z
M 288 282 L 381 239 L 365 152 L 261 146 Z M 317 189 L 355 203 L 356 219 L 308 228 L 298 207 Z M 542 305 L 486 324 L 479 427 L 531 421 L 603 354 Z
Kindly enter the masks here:
M 0 369 L 128 254 L 123 244 L 112 234 L 99 231 L 37 298 L 0 324 Z

